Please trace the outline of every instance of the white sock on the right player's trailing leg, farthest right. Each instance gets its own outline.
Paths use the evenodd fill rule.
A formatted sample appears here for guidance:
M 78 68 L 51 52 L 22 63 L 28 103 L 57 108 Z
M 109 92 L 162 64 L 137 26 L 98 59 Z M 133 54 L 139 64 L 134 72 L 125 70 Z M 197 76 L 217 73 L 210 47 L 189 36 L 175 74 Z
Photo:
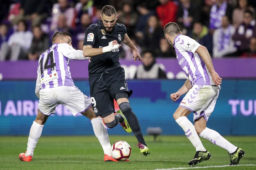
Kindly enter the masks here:
M 215 130 L 205 128 L 199 135 L 205 139 L 208 139 L 213 144 L 216 144 L 228 151 L 228 153 L 233 153 L 236 151 L 237 147 L 230 142 L 228 142 L 224 137 L 222 137 L 218 132 Z

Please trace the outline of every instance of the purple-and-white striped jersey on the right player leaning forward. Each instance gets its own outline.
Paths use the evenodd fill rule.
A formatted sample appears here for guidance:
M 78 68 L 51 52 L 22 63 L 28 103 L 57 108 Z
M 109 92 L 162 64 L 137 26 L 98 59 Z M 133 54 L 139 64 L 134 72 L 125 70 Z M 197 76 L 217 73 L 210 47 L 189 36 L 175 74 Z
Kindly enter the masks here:
M 198 42 L 179 34 L 175 37 L 173 46 L 178 63 L 192 85 L 214 85 L 203 59 L 195 53 L 196 49 L 201 46 Z

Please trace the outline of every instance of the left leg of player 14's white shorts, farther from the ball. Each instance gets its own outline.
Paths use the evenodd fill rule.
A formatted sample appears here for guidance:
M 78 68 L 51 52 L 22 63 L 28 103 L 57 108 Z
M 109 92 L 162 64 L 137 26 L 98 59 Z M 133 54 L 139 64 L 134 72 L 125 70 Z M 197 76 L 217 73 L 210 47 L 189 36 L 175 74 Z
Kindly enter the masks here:
M 39 94 L 38 109 L 44 115 L 55 114 L 55 107 L 59 105 L 55 96 L 55 88 L 41 89 Z

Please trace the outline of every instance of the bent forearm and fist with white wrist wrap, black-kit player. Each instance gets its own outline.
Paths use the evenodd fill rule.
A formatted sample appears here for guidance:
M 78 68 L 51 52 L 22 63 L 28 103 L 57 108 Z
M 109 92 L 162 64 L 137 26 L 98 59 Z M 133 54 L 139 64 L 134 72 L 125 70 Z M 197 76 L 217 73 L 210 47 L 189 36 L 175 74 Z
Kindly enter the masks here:
M 120 44 L 117 43 L 116 40 L 111 41 L 111 42 L 112 43 L 110 43 L 108 46 L 103 47 L 103 48 L 92 48 L 92 46 L 90 46 L 90 45 L 83 46 L 84 57 L 89 57 L 89 59 L 90 59 L 90 57 L 92 57 L 92 56 L 110 52 L 113 49 L 119 48 L 121 46 Z

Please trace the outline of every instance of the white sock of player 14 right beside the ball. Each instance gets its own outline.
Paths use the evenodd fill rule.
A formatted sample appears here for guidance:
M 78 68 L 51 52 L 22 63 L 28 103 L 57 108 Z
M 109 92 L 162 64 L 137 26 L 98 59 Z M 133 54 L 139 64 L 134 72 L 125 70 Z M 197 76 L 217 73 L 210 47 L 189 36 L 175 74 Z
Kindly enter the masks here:
M 111 145 L 108 137 L 108 131 L 100 117 L 92 119 L 92 127 L 95 136 L 99 139 L 104 154 L 111 156 Z

